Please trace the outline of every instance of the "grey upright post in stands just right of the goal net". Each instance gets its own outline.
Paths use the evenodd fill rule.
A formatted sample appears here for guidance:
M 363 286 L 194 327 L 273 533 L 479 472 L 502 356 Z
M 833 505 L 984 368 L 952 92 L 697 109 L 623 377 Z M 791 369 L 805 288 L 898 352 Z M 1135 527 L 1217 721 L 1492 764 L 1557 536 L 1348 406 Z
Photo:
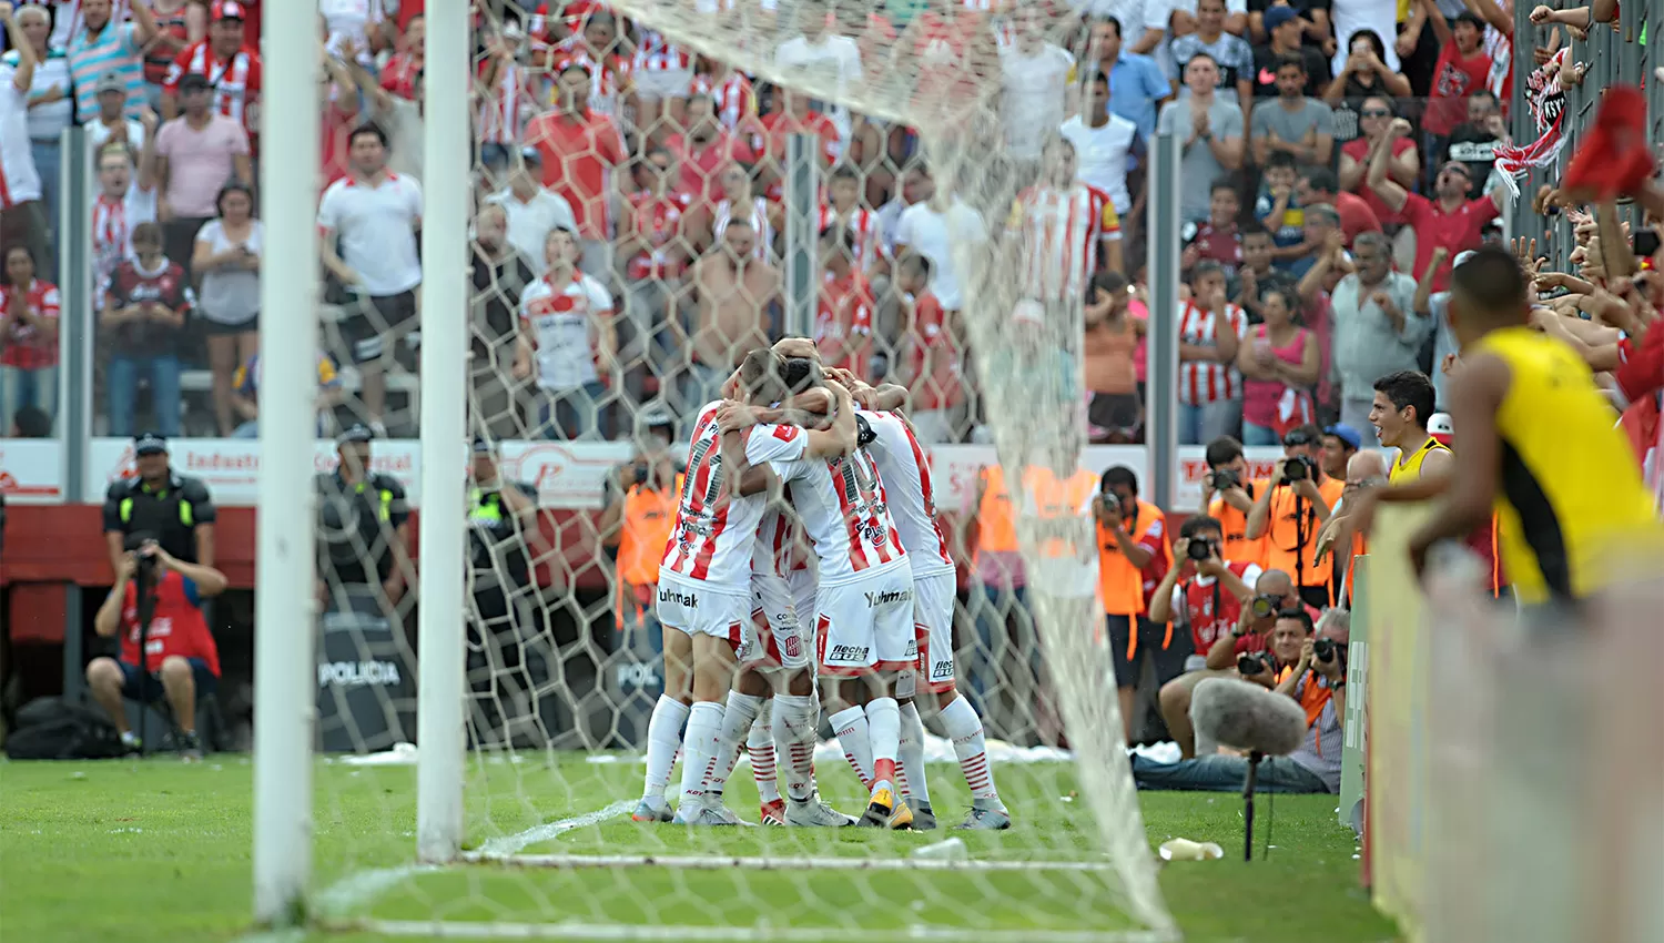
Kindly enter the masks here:
M 1150 494 L 1173 511 L 1178 469 L 1180 155 L 1175 135 L 1155 138 L 1150 160 Z

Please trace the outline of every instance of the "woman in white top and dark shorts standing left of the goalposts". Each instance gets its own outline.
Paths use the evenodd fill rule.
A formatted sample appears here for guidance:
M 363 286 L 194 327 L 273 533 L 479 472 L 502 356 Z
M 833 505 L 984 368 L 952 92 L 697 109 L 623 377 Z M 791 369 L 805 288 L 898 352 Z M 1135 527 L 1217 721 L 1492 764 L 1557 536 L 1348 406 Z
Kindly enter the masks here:
M 208 334 L 213 412 L 220 436 L 236 431 L 231 378 L 260 351 L 260 254 L 265 230 L 255 220 L 255 195 L 240 181 L 220 190 L 220 216 L 196 233 L 191 271 L 201 274 L 196 313 Z

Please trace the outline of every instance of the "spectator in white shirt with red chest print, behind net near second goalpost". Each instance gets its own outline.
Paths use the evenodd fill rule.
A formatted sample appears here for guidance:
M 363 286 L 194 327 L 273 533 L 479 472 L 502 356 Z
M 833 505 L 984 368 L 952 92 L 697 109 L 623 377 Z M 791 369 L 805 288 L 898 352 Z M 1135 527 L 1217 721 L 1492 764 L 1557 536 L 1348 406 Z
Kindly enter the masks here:
M 536 381 L 544 439 L 606 437 L 604 396 L 619 378 L 612 296 L 579 271 L 579 251 L 571 230 L 551 231 L 547 274 L 521 294 L 514 378 Z

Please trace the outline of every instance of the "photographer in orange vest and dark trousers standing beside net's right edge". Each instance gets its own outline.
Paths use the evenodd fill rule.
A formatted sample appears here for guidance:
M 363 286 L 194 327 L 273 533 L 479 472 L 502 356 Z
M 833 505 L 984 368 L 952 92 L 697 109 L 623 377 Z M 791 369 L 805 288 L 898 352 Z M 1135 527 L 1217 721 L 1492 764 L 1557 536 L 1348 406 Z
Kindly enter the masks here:
M 1155 659 L 1158 685 L 1183 674 L 1190 654 L 1188 645 L 1173 645 L 1171 625 L 1145 617 L 1156 585 L 1173 567 L 1173 552 L 1166 544 L 1166 516 L 1138 499 L 1138 476 L 1127 466 L 1103 472 L 1092 516 L 1098 522 L 1098 597 L 1110 625 L 1122 723 L 1132 742 L 1133 695 L 1142 674 L 1138 652 Z

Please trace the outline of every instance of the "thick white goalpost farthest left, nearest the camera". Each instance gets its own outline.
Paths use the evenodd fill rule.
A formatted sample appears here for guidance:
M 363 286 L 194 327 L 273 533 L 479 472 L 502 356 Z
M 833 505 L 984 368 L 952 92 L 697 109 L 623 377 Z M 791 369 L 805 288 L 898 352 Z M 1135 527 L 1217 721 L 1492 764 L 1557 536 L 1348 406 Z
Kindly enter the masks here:
M 271 62 L 261 138 L 285 155 L 318 153 L 318 12 L 266 3 Z M 318 424 L 318 161 L 260 163 L 265 273 L 260 279 L 260 507 L 255 565 L 255 920 L 290 925 L 311 880 L 314 579 L 313 437 Z M 303 318 L 275 318 L 295 308 Z

